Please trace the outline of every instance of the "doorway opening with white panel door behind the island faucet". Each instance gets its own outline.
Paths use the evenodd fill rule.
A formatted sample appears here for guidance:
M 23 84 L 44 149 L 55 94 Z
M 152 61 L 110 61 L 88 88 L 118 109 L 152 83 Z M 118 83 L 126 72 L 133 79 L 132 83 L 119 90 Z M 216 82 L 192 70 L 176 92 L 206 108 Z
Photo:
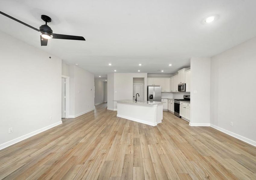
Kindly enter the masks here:
M 133 99 L 135 100 L 136 94 L 139 94 L 140 97 L 137 95 L 137 101 L 144 101 L 144 78 L 143 77 L 134 77 L 133 78 Z

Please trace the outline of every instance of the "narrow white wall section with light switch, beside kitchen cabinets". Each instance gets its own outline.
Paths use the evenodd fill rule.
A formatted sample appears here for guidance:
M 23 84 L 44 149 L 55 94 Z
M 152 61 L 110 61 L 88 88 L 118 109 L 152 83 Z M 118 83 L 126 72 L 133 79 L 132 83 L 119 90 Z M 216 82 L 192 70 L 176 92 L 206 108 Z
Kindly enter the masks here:
M 191 58 L 190 125 L 210 123 L 210 58 Z M 197 94 L 194 93 L 197 91 Z

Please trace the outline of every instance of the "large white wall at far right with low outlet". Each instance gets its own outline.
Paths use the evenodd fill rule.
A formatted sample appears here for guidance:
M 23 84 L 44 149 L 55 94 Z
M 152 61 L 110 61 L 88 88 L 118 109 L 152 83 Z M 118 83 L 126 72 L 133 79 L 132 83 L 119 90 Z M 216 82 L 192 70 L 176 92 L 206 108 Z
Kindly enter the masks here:
M 253 140 L 254 146 L 255 68 L 256 38 L 211 58 L 210 123 Z M 230 121 L 233 126 L 230 126 Z

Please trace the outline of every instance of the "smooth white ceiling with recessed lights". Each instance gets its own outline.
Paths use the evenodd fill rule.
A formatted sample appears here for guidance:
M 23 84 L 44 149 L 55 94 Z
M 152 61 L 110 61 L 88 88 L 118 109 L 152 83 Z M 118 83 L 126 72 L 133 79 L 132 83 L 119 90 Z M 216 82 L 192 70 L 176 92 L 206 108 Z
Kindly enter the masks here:
M 54 33 L 84 36 L 40 46 L 39 32 L 0 15 L 0 31 L 96 77 L 114 69 L 175 73 L 191 57 L 213 56 L 256 36 L 255 0 L 1 0 L 0 7 L 38 29 L 45 14 Z M 205 24 L 211 15 L 218 19 Z

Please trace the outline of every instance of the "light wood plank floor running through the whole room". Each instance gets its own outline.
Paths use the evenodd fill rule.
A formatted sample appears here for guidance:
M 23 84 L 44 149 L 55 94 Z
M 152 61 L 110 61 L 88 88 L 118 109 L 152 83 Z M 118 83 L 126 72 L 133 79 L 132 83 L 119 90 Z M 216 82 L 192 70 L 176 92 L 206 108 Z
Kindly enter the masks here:
M 163 112 L 156 127 L 106 104 L 0 151 L 0 179 L 256 179 L 256 148 Z

